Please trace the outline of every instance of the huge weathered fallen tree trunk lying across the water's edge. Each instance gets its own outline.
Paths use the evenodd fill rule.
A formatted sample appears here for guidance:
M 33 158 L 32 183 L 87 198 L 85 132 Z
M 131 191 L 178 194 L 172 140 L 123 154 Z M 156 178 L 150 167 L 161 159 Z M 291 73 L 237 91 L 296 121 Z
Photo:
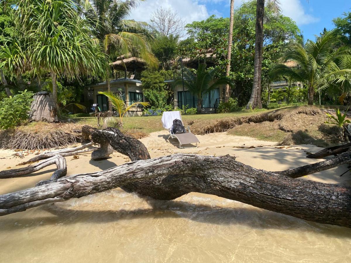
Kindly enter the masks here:
M 351 227 L 351 188 L 294 179 L 330 169 L 344 159 L 350 161 L 350 153 L 303 168 L 270 172 L 231 156 L 176 154 L 150 159 L 143 143 L 115 128 L 96 130 L 91 136 L 97 143 L 107 141 L 132 162 L 2 195 L 0 215 L 122 187 L 163 200 L 190 192 L 213 194 L 304 220 Z

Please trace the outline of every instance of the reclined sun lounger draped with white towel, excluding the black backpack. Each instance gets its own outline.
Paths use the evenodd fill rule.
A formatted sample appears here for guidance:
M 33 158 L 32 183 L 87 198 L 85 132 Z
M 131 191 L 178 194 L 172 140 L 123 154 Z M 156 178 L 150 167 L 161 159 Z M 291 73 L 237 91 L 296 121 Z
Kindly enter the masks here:
M 178 119 L 181 121 L 181 123 L 184 126 L 183 120 L 181 119 L 180 111 L 174 111 L 174 112 L 164 112 L 162 115 L 162 125 L 165 129 L 167 129 L 170 133 L 170 136 L 168 136 L 168 140 L 170 139 L 177 139 L 179 141 L 179 148 L 185 148 L 183 145 L 185 144 L 192 144 L 196 143 L 197 144 L 200 142 L 197 137 L 190 132 L 190 127 L 186 127 L 187 132 L 186 133 L 179 133 L 179 134 L 172 134 L 171 129 L 173 125 L 173 120 Z

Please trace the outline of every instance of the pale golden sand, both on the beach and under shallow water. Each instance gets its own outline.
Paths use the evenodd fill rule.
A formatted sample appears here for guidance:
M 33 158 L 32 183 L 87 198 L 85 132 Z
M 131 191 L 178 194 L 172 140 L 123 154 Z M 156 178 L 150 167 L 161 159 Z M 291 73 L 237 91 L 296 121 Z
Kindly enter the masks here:
M 151 157 L 172 153 L 236 156 L 255 168 L 284 170 L 316 160 L 312 145 L 274 147 L 273 142 L 226 133 L 198 136 L 198 148 L 178 149 L 165 132 L 141 139 Z M 256 146 L 239 149 L 235 146 Z M 258 147 L 263 146 L 263 147 Z M 25 159 L 0 151 L 0 170 Z M 113 153 L 104 161 L 66 157 L 68 175 L 130 161 Z M 318 161 L 318 160 L 317 160 Z M 19 166 L 17 166 L 19 167 Z M 55 166 L 21 178 L 2 179 L 0 194 L 33 187 Z M 299 180 L 351 185 L 346 166 Z M 350 262 L 351 229 L 299 220 L 224 198 L 190 193 L 173 201 L 113 189 L 0 217 L 1 262 Z

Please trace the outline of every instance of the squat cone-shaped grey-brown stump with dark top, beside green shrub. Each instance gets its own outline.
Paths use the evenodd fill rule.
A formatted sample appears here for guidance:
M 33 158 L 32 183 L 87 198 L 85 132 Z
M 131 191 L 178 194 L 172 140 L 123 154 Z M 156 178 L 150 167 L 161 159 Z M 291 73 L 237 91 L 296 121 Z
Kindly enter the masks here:
M 29 119 L 32 121 L 58 122 L 57 106 L 52 94 L 46 91 L 34 94 Z

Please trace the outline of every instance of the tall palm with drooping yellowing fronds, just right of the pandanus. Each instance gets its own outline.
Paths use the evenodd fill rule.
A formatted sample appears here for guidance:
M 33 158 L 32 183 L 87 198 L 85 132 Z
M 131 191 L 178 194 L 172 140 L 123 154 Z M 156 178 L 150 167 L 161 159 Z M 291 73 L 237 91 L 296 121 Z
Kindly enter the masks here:
M 81 0 L 80 8 L 86 21 L 93 29 L 94 38 L 101 43 L 108 58 L 106 63 L 106 85 L 110 91 L 110 66 L 112 59 L 137 53 L 151 68 L 158 67 L 158 61 L 151 52 L 151 35 L 147 23 L 126 19 L 131 11 L 143 0 Z M 109 104 L 109 110 L 112 105 Z

